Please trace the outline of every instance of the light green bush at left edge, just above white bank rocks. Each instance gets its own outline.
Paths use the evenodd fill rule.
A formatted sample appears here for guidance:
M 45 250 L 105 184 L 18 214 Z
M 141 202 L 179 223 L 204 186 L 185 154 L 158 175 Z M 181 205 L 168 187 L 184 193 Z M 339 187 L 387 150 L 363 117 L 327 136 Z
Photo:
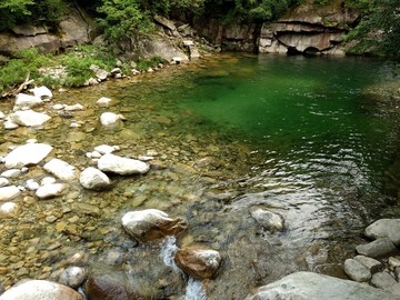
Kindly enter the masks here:
M 17 57 L 0 68 L 0 93 L 22 83 L 28 74 L 31 79 L 39 78 L 38 69 L 50 63 L 49 57 L 36 49 L 23 50 Z

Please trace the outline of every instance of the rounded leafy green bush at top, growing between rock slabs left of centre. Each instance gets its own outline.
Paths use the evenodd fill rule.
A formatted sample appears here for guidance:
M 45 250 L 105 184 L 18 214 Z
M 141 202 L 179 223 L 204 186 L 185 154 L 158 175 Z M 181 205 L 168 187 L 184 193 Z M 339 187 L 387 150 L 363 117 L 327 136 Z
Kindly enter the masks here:
M 137 0 L 103 0 L 98 9 L 106 34 L 113 41 L 139 36 L 152 29 L 150 14 L 140 9 Z

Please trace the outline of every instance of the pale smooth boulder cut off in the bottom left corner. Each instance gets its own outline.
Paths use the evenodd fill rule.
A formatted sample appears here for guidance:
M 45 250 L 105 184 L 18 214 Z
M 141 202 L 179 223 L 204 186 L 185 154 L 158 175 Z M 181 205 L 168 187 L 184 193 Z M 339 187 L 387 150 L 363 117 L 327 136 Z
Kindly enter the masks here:
M 82 300 L 73 289 L 46 280 L 30 280 L 12 287 L 0 296 L 0 300 Z

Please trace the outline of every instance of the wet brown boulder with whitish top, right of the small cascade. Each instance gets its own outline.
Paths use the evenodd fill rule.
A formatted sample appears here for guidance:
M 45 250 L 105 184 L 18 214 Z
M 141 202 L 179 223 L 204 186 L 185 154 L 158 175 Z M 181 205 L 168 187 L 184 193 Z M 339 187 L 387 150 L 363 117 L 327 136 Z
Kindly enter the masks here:
M 177 266 L 194 279 L 213 278 L 222 258 L 210 249 L 178 249 L 173 258 Z

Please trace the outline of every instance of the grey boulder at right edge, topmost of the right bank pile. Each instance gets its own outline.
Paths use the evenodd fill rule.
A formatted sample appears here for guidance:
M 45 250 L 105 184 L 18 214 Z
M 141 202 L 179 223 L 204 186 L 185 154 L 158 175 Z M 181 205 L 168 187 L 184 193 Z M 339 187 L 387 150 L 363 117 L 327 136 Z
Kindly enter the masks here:
M 400 219 L 380 219 L 366 228 L 366 236 L 371 239 L 389 238 L 400 246 Z

